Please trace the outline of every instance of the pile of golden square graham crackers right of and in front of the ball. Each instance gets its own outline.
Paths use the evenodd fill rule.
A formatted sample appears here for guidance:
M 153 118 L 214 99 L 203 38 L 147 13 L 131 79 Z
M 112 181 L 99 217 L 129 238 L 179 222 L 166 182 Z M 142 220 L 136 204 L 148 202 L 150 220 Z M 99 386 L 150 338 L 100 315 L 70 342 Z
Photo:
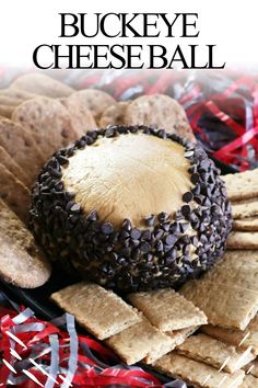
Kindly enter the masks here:
M 227 250 L 210 272 L 186 283 L 178 293 L 165 288 L 131 294 L 116 307 L 115 294 L 80 283 L 54 294 L 52 300 L 75 315 L 87 331 L 105 340 L 127 364 L 150 364 L 194 387 L 258 388 L 258 251 L 253 240 L 256 229 L 236 229 L 236 221 L 245 224 L 249 216 L 256 224 L 257 178 L 258 169 L 224 176 L 234 217 Z M 253 210 L 248 210 L 250 202 Z M 236 230 L 238 244 L 232 242 Z M 247 232 L 251 233 L 251 246 L 247 243 Z M 114 317 L 112 311 L 119 319 L 107 319 Z

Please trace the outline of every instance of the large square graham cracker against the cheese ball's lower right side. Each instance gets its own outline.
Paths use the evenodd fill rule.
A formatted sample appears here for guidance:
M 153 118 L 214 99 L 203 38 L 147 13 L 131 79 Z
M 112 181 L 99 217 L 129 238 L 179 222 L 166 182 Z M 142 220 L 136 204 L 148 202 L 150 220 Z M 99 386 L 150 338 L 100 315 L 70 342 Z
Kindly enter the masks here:
M 211 324 L 244 330 L 258 311 L 258 293 L 212 281 L 190 281 L 180 293 L 208 317 Z

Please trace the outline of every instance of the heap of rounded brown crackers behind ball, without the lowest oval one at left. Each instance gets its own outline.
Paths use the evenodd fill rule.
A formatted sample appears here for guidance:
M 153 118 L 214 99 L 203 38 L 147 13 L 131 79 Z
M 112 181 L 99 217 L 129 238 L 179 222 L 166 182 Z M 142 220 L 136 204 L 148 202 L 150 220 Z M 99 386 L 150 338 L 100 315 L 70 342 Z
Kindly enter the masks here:
M 0 90 L 0 198 L 27 221 L 30 189 L 51 155 L 86 130 L 146 124 L 195 140 L 184 109 L 167 95 L 117 102 L 96 89 L 74 89 L 28 73 Z

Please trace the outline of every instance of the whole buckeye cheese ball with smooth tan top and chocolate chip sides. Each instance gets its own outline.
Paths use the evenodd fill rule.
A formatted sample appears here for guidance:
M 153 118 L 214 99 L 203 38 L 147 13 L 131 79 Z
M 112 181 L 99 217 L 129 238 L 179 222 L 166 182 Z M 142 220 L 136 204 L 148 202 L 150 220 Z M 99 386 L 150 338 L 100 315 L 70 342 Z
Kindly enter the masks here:
M 33 190 L 31 222 L 68 271 L 122 292 L 207 271 L 232 224 L 203 149 L 144 126 L 87 132 L 56 152 Z

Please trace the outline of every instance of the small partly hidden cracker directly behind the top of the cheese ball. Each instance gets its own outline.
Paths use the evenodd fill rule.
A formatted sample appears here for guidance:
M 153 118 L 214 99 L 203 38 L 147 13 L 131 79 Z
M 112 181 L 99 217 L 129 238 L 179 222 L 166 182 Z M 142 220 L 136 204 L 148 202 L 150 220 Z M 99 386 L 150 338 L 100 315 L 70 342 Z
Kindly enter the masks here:
M 102 114 L 98 123 L 99 127 L 105 128 L 108 125 L 125 124 L 125 112 L 129 103 L 129 101 L 120 101 L 114 105 L 108 106 Z

